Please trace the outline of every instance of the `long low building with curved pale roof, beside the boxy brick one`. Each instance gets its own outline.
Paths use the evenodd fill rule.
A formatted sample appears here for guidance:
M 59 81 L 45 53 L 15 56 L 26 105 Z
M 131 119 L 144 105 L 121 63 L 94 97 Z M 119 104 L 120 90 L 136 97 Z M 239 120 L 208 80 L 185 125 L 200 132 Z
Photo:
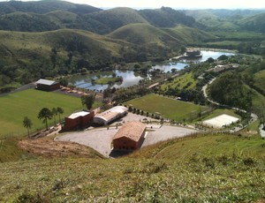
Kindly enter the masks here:
M 108 109 L 100 114 L 96 114 L 93 122 L 95 124 L 106 125 L 117 120 L 118 118 L 125 117 L 128 113 L 128 109 L 123 106 L 116 106 Z

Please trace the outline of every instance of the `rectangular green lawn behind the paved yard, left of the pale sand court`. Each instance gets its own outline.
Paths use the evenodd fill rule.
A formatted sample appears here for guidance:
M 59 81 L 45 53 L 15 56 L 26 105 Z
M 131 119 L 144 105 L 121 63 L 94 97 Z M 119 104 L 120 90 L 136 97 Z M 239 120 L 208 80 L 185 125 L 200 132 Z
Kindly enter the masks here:
M 208 109 L 207 107 L 195 105 L 191 102 L 182 102 L 166 98 L 156 94 L 146 96 L 125 102 L 126 105 L 133 105 L 133 108 L 142 109 L 149 113 L 159 112 L 162 117 L 170 118 L 176 121 L 188 119 L 200 111 Z

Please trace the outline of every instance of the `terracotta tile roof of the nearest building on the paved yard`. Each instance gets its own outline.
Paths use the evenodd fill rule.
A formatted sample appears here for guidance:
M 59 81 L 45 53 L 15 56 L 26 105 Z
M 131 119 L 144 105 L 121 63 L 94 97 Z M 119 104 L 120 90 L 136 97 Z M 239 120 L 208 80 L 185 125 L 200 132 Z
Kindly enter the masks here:
M 113 139 L 120 139 L 122 137 L 138 141 L 142 132 L 146 129 L 146 124 L 140 122 L 128 122 L 125 123 L 116 133 Z

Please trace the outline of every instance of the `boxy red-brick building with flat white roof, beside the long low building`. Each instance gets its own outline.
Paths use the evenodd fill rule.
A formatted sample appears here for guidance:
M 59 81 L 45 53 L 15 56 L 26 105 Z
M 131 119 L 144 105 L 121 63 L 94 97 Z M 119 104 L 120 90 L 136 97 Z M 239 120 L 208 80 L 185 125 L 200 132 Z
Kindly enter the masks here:
M 64 118 L 64 130 L 73 131 L 85 128 L 89 124 L 92 124 L 94 116 L 94 111 L 79 111 L 73 113 L 71 116 Z

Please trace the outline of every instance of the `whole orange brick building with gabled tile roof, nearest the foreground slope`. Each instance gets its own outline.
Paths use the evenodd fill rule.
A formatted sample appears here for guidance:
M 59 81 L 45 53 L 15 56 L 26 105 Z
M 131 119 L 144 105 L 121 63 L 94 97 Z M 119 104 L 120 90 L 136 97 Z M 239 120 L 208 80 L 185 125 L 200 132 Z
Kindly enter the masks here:
M 141 147 L 146 133 L 146 124 L 140 122 L 125 123 L 113 138 L 116 150 L 135 150 Z

